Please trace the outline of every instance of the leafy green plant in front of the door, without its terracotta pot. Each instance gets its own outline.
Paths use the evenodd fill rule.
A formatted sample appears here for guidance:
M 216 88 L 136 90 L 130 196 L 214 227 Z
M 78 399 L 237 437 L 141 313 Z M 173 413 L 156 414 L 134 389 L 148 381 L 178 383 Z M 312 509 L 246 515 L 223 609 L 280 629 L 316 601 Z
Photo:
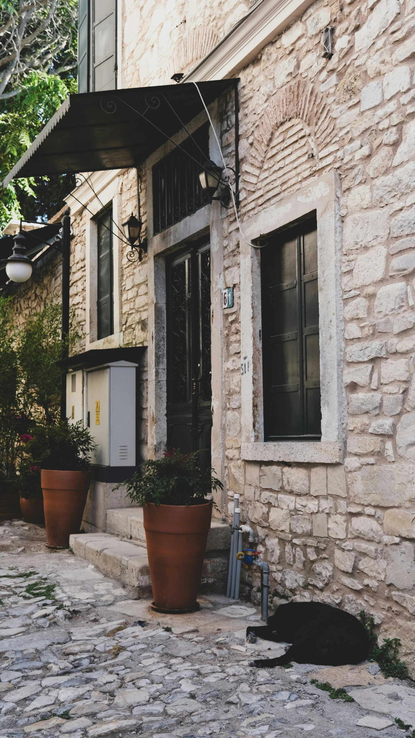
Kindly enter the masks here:
M 223 484 L 212 476 L 215 469 L 200 469 L 198 456 L 198 451 L 192 454 L 180 449 L 166 451 L 163 458 L 146 462 L 143 475 L 136 472 L 122 484 L 127 486 L 131 501 L 139 505 L 201 504 L 212 490 L 223 489 Z

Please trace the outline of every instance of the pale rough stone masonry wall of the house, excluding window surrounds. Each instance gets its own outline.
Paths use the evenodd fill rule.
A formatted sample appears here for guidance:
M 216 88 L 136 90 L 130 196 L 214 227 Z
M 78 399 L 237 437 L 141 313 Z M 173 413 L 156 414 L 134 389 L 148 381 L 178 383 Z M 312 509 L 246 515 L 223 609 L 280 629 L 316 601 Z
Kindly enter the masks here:
M 219 0 L 197 6 L 167 0 L 125 2 L 122 85 L 165 83 L 179 66 L 189 71 L 248 5 Z M 321 55 L 321 34 L 327 26 L 335 34 L 329 60 Z M 414 0 L 317 0 L 235 73 L 241 80 L 243 223 L 267 208 L 283 212 L 287 198 L 307 196 L 316 179 L 337 173 L 337 277 L 343 289 L 342 359 L 337 369 L 343 375 L 341 401 L 346 407 L 341 417 L 344 461 L 243 460 L 244 295 L 240 236 L 231 211 L 221 215 L 223 268 L 212 278 L 215 289 L 233 286 L 235 296 L 235 307 L 217 336 L 225 408 L 217 450 L 217 472 L 226 485 L 220 514 L 231 516 L 233 496 L 241 494 L 243 522 L 254 525 L 259 549 L 270 563 L 274 596 L 321 599 L 355 614 L 361 609 L 373 613 L 385 633 L 400 637 L 402 658 L 413 676 L 414 65 Z M 230 96 L 220 110 L 223 151 L 231 163 L 232 105 Z M 145 170 L 141 175 L 145 214 Z M 119 174 L 116 193 L 122 216 L 136 201 L 135 183 L 133 170 Z M 72 305 L 81 331 L 86 321 L 85 218 L 85 210 L 75 213 L 72 241 Z M 148 284 L 154 275 L 149 266 L 150 257 L 128 263 L 123 250 L 118 345 L 151 345 L 147 317 L 153 297 L 148 297 Z M 17 289 L 15 308 L 21 316 L 28 304 L 31 309 L 41 306 L 47 294 L 56 292 L 52 277 L 49 287 L 42 279 L 35 275 L 27 287 Z M 255 381 L 261 382 L 260 375 Z M 151 420 L 156 423 L 158 418 L 152 415 Z M 257 579 L 247 584 L 257 585 Z

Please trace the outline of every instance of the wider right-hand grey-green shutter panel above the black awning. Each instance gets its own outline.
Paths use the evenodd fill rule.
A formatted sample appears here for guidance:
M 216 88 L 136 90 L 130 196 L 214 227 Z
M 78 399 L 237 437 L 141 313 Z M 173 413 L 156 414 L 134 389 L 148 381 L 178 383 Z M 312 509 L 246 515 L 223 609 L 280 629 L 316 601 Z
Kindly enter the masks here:
M 116 89 L 116 0 L 92 0 L 94 91 Z

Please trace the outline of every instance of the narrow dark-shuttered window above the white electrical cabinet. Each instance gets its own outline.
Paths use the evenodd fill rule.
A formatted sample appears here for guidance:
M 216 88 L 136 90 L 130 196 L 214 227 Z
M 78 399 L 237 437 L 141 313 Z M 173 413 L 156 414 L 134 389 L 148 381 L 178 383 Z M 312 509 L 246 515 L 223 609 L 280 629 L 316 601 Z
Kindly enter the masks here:
M 111 210 L 98 220 L 97 337 L 114 333 L 113 237 Z

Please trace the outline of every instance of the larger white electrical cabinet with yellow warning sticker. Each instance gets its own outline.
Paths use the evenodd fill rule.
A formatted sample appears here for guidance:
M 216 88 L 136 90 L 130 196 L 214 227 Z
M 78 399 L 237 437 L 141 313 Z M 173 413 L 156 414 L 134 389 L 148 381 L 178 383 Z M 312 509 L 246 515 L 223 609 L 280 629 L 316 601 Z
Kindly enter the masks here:
M 119 361 L 86 370 L 86 420 L 97 444 L 92 464 L 136 465 L 136 366 Z

